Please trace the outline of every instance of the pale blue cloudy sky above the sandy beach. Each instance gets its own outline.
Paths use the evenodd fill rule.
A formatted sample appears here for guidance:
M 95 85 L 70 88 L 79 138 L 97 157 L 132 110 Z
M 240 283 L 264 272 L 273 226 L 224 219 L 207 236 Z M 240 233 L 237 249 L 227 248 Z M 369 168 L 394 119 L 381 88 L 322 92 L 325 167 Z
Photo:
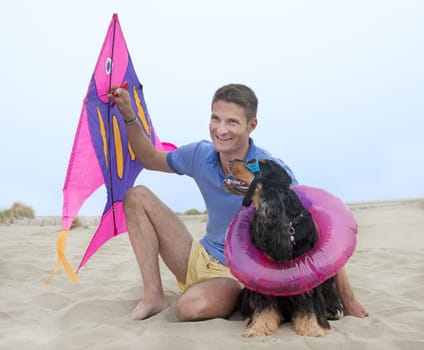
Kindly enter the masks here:
M 60 215 L 82 102 L 117 13 L 155 130 L 209 139 L 227 83 L 259 99 L 255 143 L 300 183 L 345 202 L 424 197 L 420 0 L 2 1 L 0 210 Z M 192 179 L 142 171 L 174 211 L 205 206 Z M 104 187 L 79 215 L 98 215 Z

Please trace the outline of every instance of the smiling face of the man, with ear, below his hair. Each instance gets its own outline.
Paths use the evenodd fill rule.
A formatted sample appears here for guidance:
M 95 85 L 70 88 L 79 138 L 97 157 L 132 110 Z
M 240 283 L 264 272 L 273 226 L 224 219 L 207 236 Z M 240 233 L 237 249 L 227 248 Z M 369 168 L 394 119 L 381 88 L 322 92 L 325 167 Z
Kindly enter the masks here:
M 255 127 L 256 118 L 248 123 L 243 107 L 225 101 L 212 105 L 209 133 L 217 152 L 235 157 L 244 152 Z

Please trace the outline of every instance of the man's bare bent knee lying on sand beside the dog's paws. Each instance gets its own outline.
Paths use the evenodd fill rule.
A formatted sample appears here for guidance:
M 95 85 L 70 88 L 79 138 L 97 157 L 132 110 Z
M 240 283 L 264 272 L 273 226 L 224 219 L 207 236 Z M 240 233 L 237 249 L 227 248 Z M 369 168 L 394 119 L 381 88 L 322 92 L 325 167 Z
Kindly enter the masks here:
M 234 311 L 240 290 L 240 284 L 227 277 L 194 284 L 178 299 L 177 316 L 181 321 L 226 318 Z

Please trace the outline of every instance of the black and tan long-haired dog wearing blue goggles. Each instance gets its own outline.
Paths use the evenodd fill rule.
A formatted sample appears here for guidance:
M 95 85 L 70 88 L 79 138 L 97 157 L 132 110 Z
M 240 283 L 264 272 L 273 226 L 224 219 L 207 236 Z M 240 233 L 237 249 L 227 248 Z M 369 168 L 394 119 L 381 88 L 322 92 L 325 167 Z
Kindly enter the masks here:
M 272 160 L 253 160 L 246 166 L 238 159 L 228 166 L 232 177 L 224 180 L 226 190 L 244 196 L 244 206 L 254 203 L 250 236 L 256 248 L 276 262 L 284 262 L 314 246 L 318 237 L 315 223 L 290 189 L 292 181 L 283 167 Z M 292 321 L 299 335 L 321 336 L 330 329 L 328 320 L 343 314 L 334 277 L 293 296 L 264 295 L 243 288 L 239 303 L 242 315 L 249 318 L 245 337 L 271 335 L 285 321 Z

